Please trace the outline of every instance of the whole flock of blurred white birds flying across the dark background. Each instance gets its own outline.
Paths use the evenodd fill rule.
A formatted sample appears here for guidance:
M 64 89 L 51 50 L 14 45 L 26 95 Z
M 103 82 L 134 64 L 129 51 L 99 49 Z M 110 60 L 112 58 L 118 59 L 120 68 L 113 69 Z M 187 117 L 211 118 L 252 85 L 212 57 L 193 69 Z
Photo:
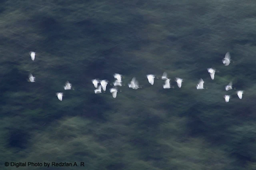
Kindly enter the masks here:
M 31 57 L 32 61 L 35 60 L 35 56 L 36 56 L 36 53 L 31 51 L 30 52 L 30 57 Z M 227 52 L 225 57 L 224 57 L 224 59 L 222 59 L 222 63 L 225 66 L 228 66 L 230 64 L 230 62 L 231 62 L 230 58 L 231 58 L 230 57 L 230 53 Z M 215 75 L 216 70 L 214 68 L 208 68 L 207 70 L 208 70 L 208 72 L 210 74 L 211 79 L 214 80 L 214 75 Z M 113 98 L 116 98 L 116 95 L 117 95 L 117 92 L 118 92 L 117 86 L 122 86 L 122 78 L 123 78 L 123 76 L 121 74 L 117 74 L 117 73 L 115 73 L 113 76 L 114 76 L 114 78 L 116 80 L 113 82 L 113 85 L 112 85 L 113 87 L 110 88 L 110 93 L 112 94 Z M 148 82 L 151 85 L 153 85 L 154 84 L 154 79 L 156 78 L 156 76 L 154 74 L 148 74 L 146 76 L 148 78 Z M 30 73 L 29 76 L 28 76 L 28 82 L 35 82 L 35 79 L 36 78 Z M 168 78 L 166 72 L 163 73 L 161 79 L 165 80 L 165 82 L 163 84 L 163 88 L 164 89 L 174 88 L 174 86 L 172 86 L 170 84 L 170 80 L 171 79 Z M 183 79 L 176 77 L 175 81 L 177 83 L 178 88 L 181 88 Z M 94 80 L 92 80 L 92 84 L 95 87 L 94 93 L 95 94 L 99 94 L 99 93 L 102 93 L 102 90 L 103 90 L 103 92 L 106 92 L 106 86 L 108 84 L 108 80 L 94 79 Z M 139 82 L 136 80 L 135 77 L 132 78 L 131 82 L 128 84 L 128 87 L 132 88 L 134 90 L 137 90 L 138 88 L 142 88 L 139 85 Z M 67 81 L 65 86 L 64 86 L 64 90 L 71 90 L 71 88 L 72 88 L 72 84 L 70 84 Z M 198 89 L 198 90 L 204 89 L 204 80 L 202 78 L 199 80 L 198 84 L 196 85 L 196 89 Z M 233 89 L 232 88 L 232 82 L 230 82 L 227 86 L 225 86 L 225 89 L 226 89 L 226 91 L 232 90 Z M 238 91 L 236 91 L 236 94 L 237 94 L 238 98 L 242 99 L 242 95 L 244 94 L 244 91 L 243 90 L 238 90 Z M 56 93 L 56 96 L 58 97 L 58 100 L 62 101 L 62 96 L 63 96 L 62 92 Z M 231 98 L 230 95 L 224 95 L 225 102 L 229 102 L 230 98 Z

